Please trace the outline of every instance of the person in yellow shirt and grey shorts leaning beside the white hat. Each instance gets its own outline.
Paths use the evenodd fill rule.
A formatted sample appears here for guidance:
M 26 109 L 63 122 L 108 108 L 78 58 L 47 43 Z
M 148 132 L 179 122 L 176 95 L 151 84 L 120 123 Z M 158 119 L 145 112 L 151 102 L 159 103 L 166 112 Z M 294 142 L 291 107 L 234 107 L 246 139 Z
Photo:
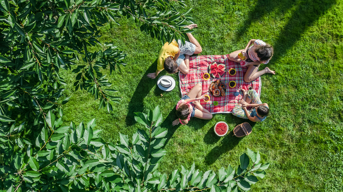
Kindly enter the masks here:
M 197 24 L 191 24 L 186 26 L 189 29 L 198 27 Z M 159 72 L 163 69 L 169 74 L 176 73 L 180 70 L 182 73 L 187 74 L 189 72 L 189 56 L 202 52 L 202 48 L 199 42 L 193 37 L 191 33 L 186 33 L 189 41 L 182 45 L 181 40 L 178 42 L 175 39 L 169 44 L 166 42 L 161 51 L 158 54 L 157 70 L 154 73 L 147 74 L 147 77 L 155 79 Z

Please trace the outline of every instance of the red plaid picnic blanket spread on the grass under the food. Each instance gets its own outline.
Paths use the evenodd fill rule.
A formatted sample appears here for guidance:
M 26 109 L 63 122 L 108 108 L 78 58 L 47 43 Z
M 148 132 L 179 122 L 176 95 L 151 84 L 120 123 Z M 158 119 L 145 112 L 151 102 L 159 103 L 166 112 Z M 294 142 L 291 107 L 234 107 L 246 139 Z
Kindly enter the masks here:
M 210 78 L 209 80 L 204 80 L 202 78 L 203 74 L 208 72 L 209 65 L 212 64 L 214 61 L 218 61 L 224 64 L 226 67 L 226 72 L 220 79 L 220 81 L 224 82 L 227 85 L 225 96 L 223 97 L 214 97 L 209 92 L 210 84 L 217 79 Z M 244 82 L 244 74 L 248 68 L 241 67 L 239 63 L 229 60 L 229 55 L 202 55 L 197 57 L 190 57 L 189 62 L 189 73 L 185 75 L 179 72 L 181 95 L 186 95 L 194 85 L 201 83 L 202 94 L 209 95 L 210 101 L 205 102 L 201 100 L 200 103 L 212 114 L 231 113 L 232 109 L 239 103 L 240 99 L 242 98 L 242 92 L 239 90 L 239 88 L 248 90 L 248 87 L 251 86 L 253 89 L 256 90 L 258 95 L 261 94 L 261 78 L 259 77 L 249 83 Z M 230 68 L 236 69 L 236 74 L 234 76 L 229 75 L 228 71 Z M 235 81 L 236 87 L 229 87 L 230 81 Z M 234 92 L 238 92 L 239 95 L 235 96 Z M 218 105 L 214 106 L 213 101 L 218 101 Z

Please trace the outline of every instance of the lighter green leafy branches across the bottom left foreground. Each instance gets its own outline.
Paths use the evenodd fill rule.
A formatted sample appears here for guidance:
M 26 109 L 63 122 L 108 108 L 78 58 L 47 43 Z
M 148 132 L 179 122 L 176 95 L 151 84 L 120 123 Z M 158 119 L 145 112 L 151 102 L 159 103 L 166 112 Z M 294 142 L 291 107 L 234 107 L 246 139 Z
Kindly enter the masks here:
M 166 151 L 167 129 L 159 124 L 158 106 L 149 114 L 135 113 L 145 126 L 132 135 L 120 134 L 118 143 L 106 143 L 94 129 L 95 119 L 84 124 L 62 125 L 62 117 L 49 111 L 45 126 L 34 141 L 18 135 L 24 123 L 0 129 L 0 191 L 197 191 L 227 192 L 249 190 L 256 176 L 263 178 L 269 164 L 259 164 L 259 153 L 248 149 L 240 157 L 237 172 L 229 165 L 216 174 L 190 169 L 174 170 L 167 176 L 158 172 L 158 163 Z M 12 138 L 12 136 L 16 138 Z M 15 149 L 15 144 L 20 149 Z M 250 169 L 249 157 L 253 161 Z

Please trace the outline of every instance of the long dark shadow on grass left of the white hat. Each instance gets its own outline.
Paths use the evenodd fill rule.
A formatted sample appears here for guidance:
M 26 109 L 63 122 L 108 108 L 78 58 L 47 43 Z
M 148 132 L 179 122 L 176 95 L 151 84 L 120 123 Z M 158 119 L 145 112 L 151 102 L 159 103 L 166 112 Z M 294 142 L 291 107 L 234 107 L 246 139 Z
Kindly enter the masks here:
M 134 112 L 143 112 L 144 104 L 143 99 L 149 94 L 150 90 L 155 86 L 158 77 L 165 75 L 165 71 L 159 73 L 158 77 L 151 79 L 146 77 L 148 73 L 153 73 L 157 69 L 157 59 L 154 63 L 146 70 L 141 80 L 139 81 L 136 90 L 134 91 L 128 106 L 128 113 L 126 115 L 126 125 L 131 126 L 136 123 L 134 120 Z

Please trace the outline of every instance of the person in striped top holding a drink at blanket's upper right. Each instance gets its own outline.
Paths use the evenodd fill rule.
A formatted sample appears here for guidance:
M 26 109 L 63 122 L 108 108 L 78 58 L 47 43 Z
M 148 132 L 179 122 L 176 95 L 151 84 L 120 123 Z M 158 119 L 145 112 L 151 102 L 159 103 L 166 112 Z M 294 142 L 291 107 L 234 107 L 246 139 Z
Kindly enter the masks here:
M 257 71 L 261 63 L 267 64 L 269 62 L 273 56 L 273 52 L 274 50 L 271 45 L 259 39 L 251 39 L 245 49 L 230 53 L 229 59 L 240 63 L 243 60 L 238 58 L 239 53 L 242 53 L 247 58 L 245 60 L 245 65 L 243 65 L 248 66 L 248 70 L 244 75 L 244 81 L 250 82 L 257 79 L 264 73 L 275 74 L 275 71 L 270 70 L 269 67 L 265 67 L 263 70 Z

